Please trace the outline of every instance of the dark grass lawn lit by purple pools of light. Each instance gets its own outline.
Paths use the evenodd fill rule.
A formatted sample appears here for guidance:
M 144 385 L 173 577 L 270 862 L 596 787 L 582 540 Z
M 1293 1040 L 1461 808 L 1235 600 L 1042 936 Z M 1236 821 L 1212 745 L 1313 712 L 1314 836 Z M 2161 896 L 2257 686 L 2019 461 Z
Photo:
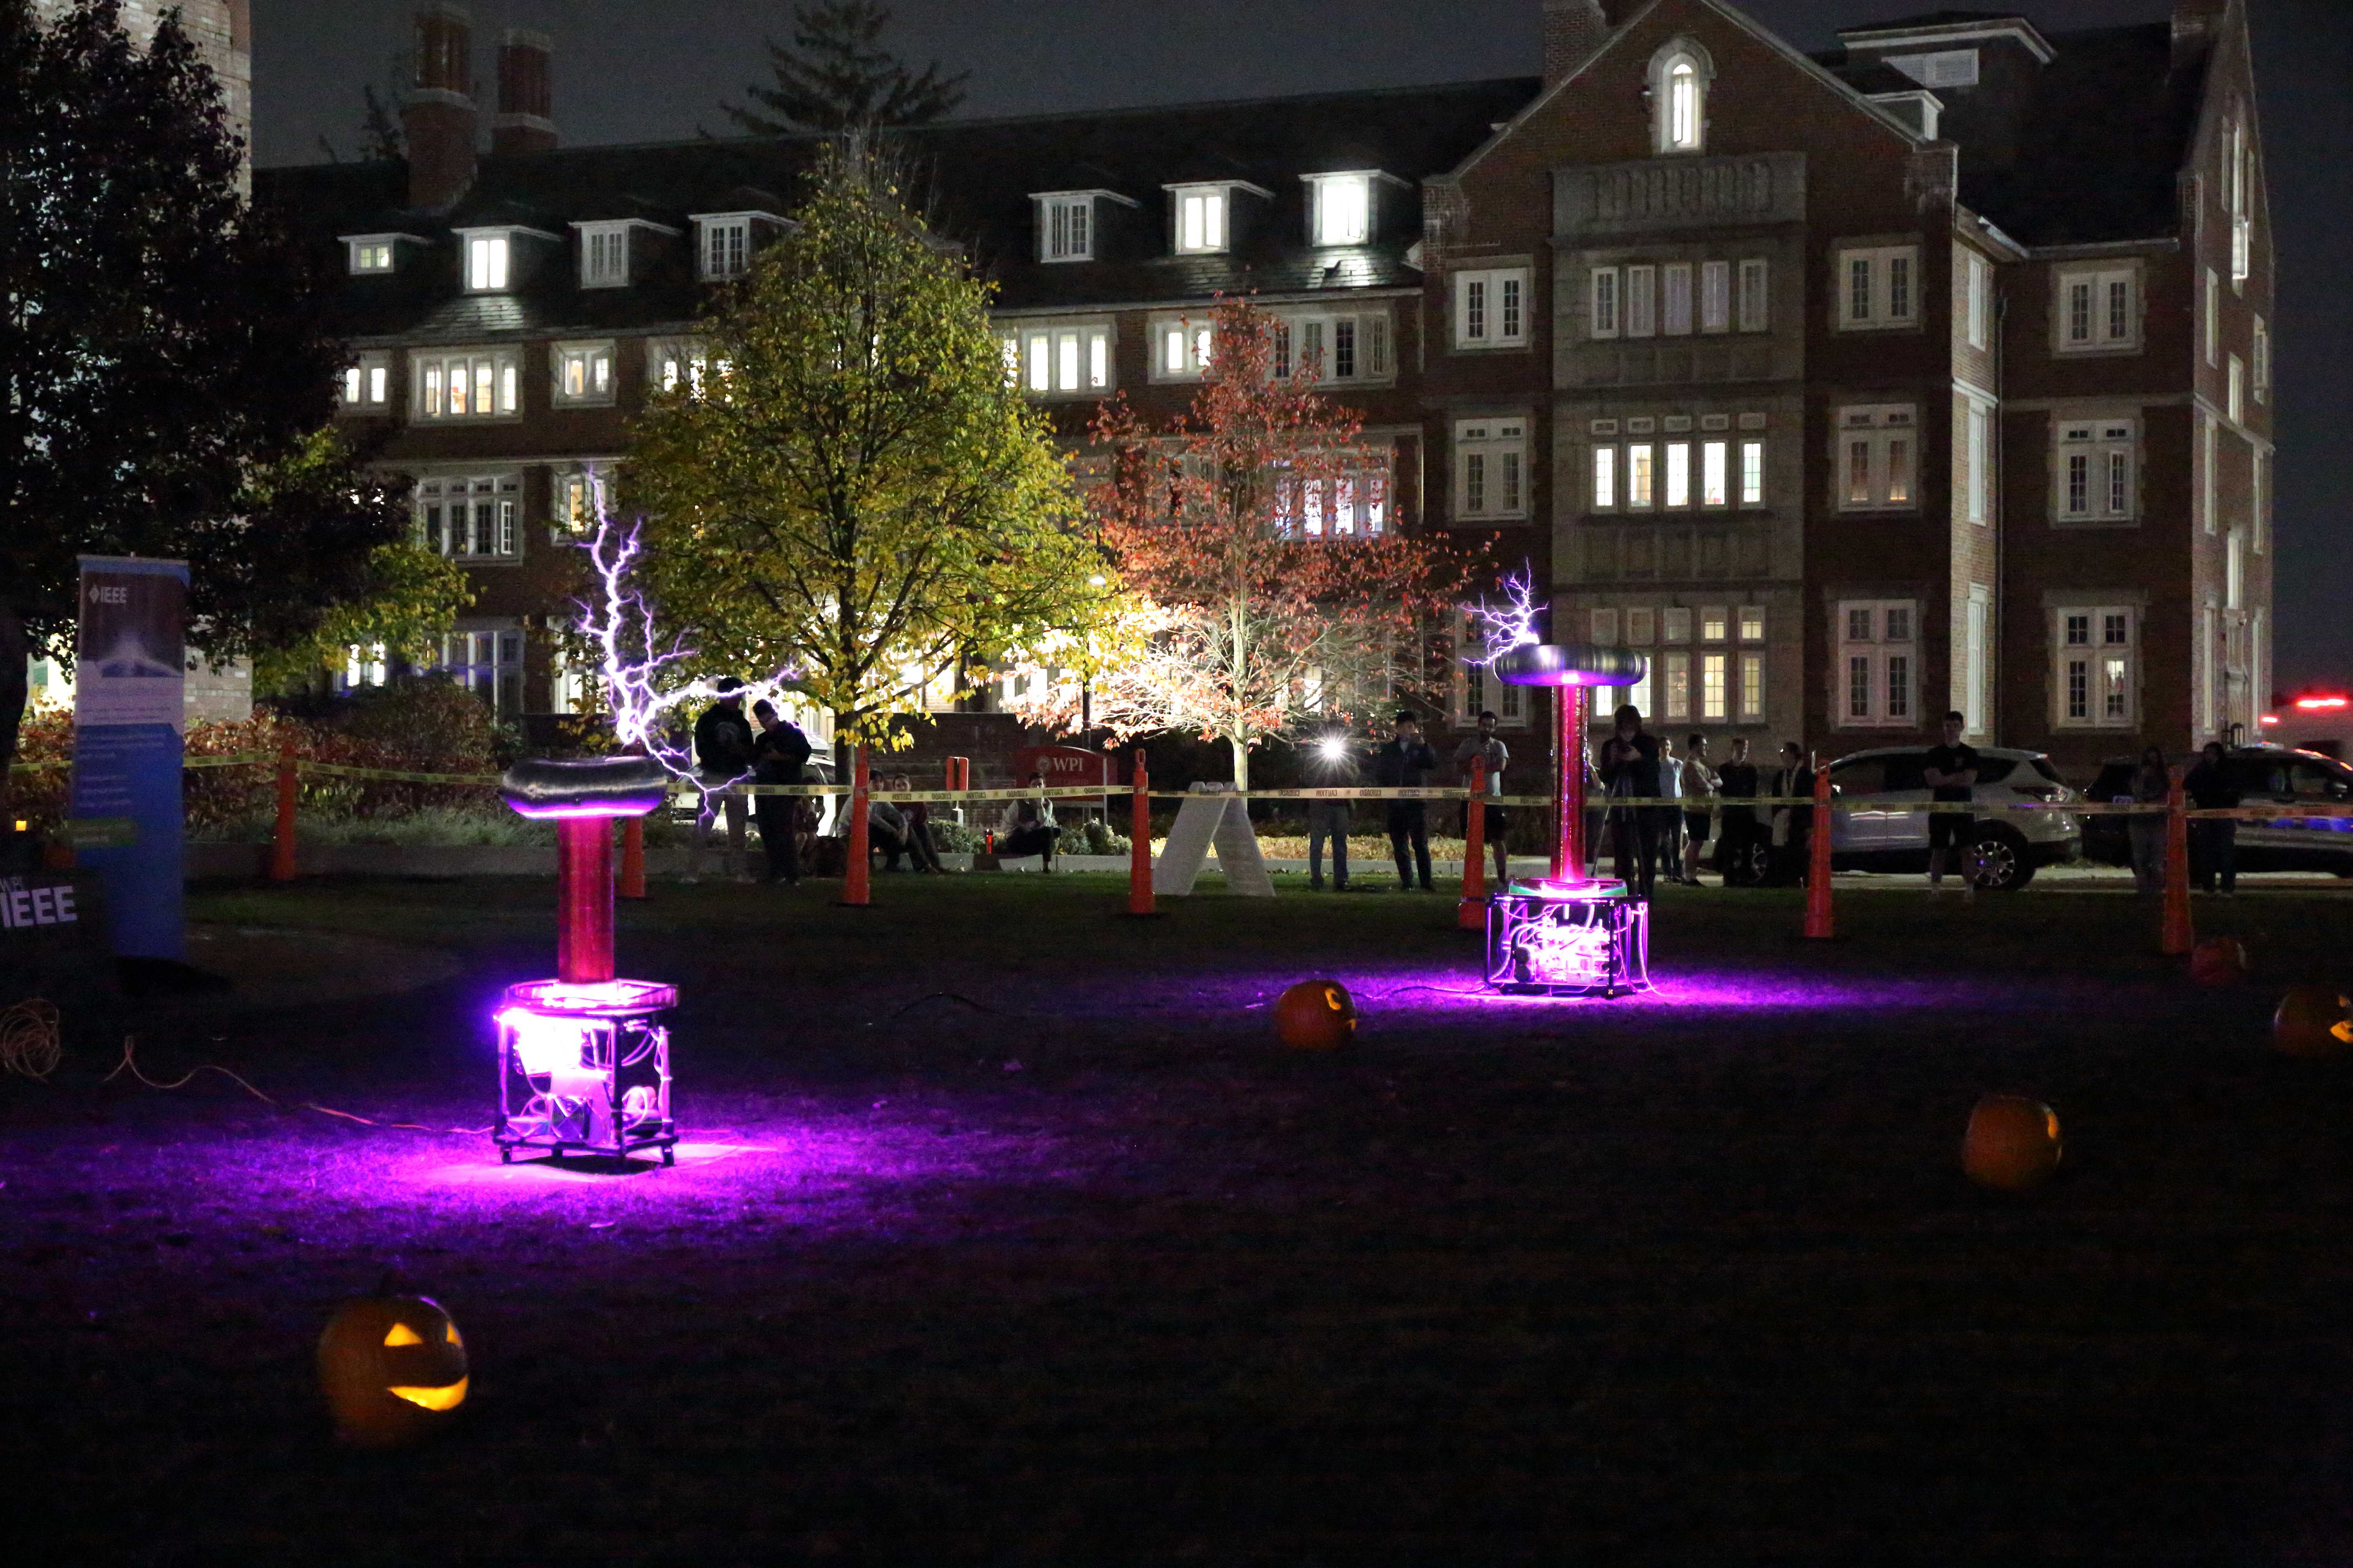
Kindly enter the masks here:
M 694 1150 L 219 1077 L 0 1081 L 0 1540 L 59 1563 L 2353 1559 L 2353 1067 L 2266 1048 L 2353 903 L 1668 891 L 1659 997 L 1497 1004 L 1452 898 L 1113 877 L 656 886 Z M 148 1072 L 480 1126 L 536 882 L 195 900 L 247 985 Z M 254 936 L 256 929 L 311 936 Z M 245 936 L 240 936 L 245 931 Z M 329 940 L 332 938 L 332 940 Z M 1280 1051 L 1311 973 L 1365 1011 Z M 405 990 L 398 990 L 405 987 Z M 372 992 L 372 994 L 362 994 Z M 951 992 L 951 994 L 941 994 Z M 71 1081 L 68 1081 L 71 1079 Z M 1986 1088 L 2061 1180 L 1972 1190 Z M 732 1152 L 729 1152 L 732 1150 Z M 447 1441 L 339 1453 L 311 1345 L 393 1274 L 473 1349 Z

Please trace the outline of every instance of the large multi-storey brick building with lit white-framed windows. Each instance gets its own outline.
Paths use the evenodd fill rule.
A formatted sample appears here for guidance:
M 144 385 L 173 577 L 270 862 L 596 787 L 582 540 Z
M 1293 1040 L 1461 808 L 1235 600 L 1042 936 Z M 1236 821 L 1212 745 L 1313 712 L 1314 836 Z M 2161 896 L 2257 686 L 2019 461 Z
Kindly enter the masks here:
M 2040 33 L 1937 12 L 1807 56 L 1718 0 L 1532 0 L 1544 73 L 904 134 L 1073 444 L 1191 395 L 1217 294 L 1289 322 L 1386 473 L 1346 529 L 1489 536 L 1671 729 L 1918 738 L 2071 773 L 2252 729 L 2271 233 L 2242 0 Z M 407 165 L 268 169 L 336 247 L 346 416 L 482 602 L 445 663 L 562 703 L 584 475 L 696 374 L 805 141 L 560 148 L 551 42 L 419 14 Z M 369 677 L 362 661 L 353 675 Z M 1454 712 L 1541 726 L 1461 672 Z M 941 693 L 967 712 L 993 693 Z M 960 729 L 969 729 L 962 726 Z M 1007 736 L 1009 741 L 1009 736 Z

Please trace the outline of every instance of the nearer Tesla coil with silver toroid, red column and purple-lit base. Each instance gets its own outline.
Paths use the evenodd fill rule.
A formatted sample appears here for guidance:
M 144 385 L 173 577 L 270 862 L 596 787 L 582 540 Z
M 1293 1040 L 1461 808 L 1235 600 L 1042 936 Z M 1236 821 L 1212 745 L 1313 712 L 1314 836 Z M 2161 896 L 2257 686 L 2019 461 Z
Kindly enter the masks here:
M 499 1006 L 499 1159 L 515 1150 L 605 1154 L 661 1150 L 675 1164 L 671 1032 L 678 987 L 619 980 L 612 961 L 612 823 L 668 797 L 652 757 L 518 762 L 506 804 L 555 823 L 555 978 L 506 987 Z

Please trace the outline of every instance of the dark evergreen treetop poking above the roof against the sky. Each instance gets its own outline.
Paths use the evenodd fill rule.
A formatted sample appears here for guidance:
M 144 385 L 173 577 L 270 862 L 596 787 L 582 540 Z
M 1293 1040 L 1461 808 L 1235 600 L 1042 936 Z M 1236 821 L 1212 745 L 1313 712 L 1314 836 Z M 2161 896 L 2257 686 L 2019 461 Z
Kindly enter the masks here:
M 793 47 L 767 40 L 774 87 L 746 87 L 767 108 L 720 108 L 755 136 L 925 125 L 965 101 L 969 71 L 922 75 L 880 45 L 889 9 L 873 0 L 816 0 L 793 7 Z

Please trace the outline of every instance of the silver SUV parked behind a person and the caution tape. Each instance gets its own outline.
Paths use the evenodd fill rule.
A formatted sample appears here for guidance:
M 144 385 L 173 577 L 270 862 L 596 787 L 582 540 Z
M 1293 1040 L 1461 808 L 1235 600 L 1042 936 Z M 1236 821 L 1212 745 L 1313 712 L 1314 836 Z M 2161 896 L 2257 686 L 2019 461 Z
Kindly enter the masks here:
M 1927 802 L 1925 745 L 1894 745 L 1854 752 L 1831 764 L 1831 795 L 1859 809 L 1831 816 L 1831 865 L 1857 872 L 1927 870 L 1927 811 L 1908 811 Z M 2078 799 L 2045 752 L 2017 752 L 1998 745 L 1977 748 L 1979 806 L 2057 804 Z M 2082 818 L 2071 811 L 2002 811 L 1977 818 L 1969 853 L 1977 860 L 1977 886 L 2007 893 L 2033 882 L 2045 865 L 2073 860 L 2082 849 Z M 1948 867 L 1958 872 L 1960 867 Z

